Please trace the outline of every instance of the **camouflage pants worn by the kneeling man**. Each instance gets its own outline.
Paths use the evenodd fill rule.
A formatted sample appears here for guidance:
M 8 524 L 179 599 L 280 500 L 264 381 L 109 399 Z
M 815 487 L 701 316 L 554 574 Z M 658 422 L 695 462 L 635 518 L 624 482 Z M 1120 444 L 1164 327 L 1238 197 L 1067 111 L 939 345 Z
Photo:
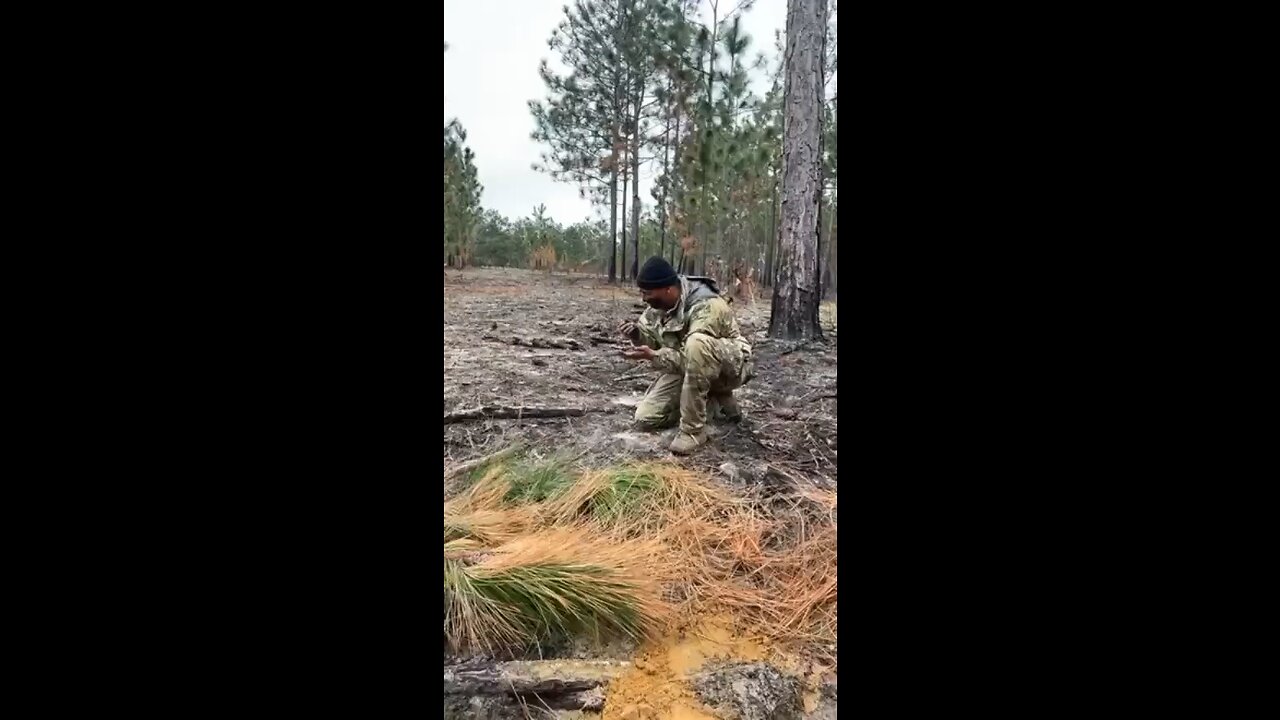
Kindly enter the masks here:
M 663 374 L 640 398 L 636 424 L 658 429 L 677 421 L 696 434 L 707 424 L 707 400 L 732 395 L 751 379 L 754 368 L 732 340 L 695 333 L 685 340 L 684 374 Z

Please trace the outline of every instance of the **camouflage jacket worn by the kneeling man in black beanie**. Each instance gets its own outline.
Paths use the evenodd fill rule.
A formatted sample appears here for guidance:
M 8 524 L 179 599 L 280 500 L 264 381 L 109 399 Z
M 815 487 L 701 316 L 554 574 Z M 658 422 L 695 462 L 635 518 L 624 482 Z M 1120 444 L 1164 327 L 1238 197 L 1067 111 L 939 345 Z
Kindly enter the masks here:
M 685 338 L 703 333 L 732 340 L 750 356 L 751 346 L 737 328 L 737 319 L 728 302 L 719 295 L 716 281 L 696 275 L 680 275 L 680 302 L 671 310 L 649 307 L 636 323 L 640 345 L 658 351 L 653 369 L 669 374 L 685 372 Z

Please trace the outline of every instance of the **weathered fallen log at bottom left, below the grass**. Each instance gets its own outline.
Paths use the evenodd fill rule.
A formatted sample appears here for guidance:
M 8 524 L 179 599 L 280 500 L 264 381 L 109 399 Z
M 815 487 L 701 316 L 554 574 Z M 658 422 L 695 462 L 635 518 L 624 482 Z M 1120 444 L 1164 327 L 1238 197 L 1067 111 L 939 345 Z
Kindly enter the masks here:
M 444 666 L 445 696 L 536 697 L 556 710 L 599 710 L 609 680 L 627 671 L 623 660 L 535 660 Z

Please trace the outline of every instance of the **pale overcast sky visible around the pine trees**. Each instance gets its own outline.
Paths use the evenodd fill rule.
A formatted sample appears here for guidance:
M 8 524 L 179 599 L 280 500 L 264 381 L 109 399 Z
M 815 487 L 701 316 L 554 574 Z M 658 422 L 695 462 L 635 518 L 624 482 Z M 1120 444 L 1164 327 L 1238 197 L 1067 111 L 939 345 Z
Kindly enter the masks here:
M 563 18 L 564 0 L 444 0 L 444 119 L 457 118 L 467 131 L 484 184 L 481 202 L 508 218 L 532 213 L 539 202 L 561 223 L 593 215 L 577 186 L 553 182 L 530 165 L 543 147 L 530 140 L 534 120 L 529 101 L 545 96 L 538 64 L 557 67 L 547 40 Z M 709 8 L 703 3 L 709 19 Z M 722 0 L 722 9 L 737 6 Z M 726 8 L 727 6 L 727 8 Z M 756 0 L 742 17 L 751 36 L 750 56 L 765 53 L 773 60 L 773 32 L 783 31 L 786 0 Z M 828 94 L 833 83 L 828 85 Z M 763 94 L 758 81 L 754 90 Z M 640 201 L 653 202 L 649 183 L 654 169 L 641 168 Z

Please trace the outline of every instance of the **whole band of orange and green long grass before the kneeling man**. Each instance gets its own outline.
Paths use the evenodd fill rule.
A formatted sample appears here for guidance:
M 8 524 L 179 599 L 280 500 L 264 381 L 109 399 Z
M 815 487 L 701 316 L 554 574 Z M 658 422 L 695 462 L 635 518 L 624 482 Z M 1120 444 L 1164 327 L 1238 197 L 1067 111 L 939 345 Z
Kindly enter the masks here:
M 835 519 L 832 492 L 737 497 L 675 465 L 493 468 L 445 503 L 445 635 L 641 638 L 730 611 L 833 660 Z

